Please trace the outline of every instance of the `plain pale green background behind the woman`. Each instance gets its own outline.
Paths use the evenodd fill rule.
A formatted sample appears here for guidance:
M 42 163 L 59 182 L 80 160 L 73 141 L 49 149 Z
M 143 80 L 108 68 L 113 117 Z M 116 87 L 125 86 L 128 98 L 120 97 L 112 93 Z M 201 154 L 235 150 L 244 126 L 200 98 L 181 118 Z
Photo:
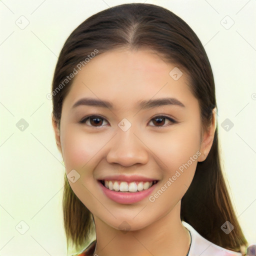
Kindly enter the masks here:
M 70 32 L 122 0 L 0 1 L 0 255 L 66 255 L 61 200 L 64 166 L 51 126 L 51 79 Z M 144 2 L 144 1 L 139 1 Z M 238 220 L 256 242 L 256 36 L 254 0 L 147 0 L 183 18 L 212 65 L 223 164 Z M 20 29 L 15 21 L 29 21 Z M 226 16 L 234 25 L 225 29 Z M 254 93 L 254 94 L 253 94 Z M 29 126 L 20 131 L 24 118 Z M 225 131 L 221 122 L 234 126 Z M 15 226 L 29 226 L 20 234 Z M 24 227 L 24 225 L 23 225 Z

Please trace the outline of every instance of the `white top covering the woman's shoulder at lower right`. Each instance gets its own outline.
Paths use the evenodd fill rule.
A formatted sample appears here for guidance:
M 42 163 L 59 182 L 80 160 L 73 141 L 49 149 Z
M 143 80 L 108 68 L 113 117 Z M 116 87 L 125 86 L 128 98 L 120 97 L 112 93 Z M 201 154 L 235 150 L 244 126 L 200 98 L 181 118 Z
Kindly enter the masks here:
M 191 245 L 188 256 L 242 256 L 240 252 L 222 248 L 202 237 L 191 225 L 182 221 L 191 234 Z

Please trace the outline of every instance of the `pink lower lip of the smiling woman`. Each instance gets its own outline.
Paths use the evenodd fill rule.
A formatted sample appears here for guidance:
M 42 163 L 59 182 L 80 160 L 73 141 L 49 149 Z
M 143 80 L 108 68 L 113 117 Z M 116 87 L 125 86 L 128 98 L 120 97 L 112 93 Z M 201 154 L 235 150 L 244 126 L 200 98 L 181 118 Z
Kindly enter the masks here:
M 100 187 L 102 188 L 104 194 L 108 198 L 110 198 L 111 200 L 113 200 L 115 202 L 123 203 L 123 204 L 141 201 L 145 197 L 149 196 L 155 187 L 155 184 L 153 184 L 148 189 L 138 191 L 138 192 L 116 192 L 116 191 L 106 188 L 100 181 L 98 181 L 98 183 L 99 183 Z

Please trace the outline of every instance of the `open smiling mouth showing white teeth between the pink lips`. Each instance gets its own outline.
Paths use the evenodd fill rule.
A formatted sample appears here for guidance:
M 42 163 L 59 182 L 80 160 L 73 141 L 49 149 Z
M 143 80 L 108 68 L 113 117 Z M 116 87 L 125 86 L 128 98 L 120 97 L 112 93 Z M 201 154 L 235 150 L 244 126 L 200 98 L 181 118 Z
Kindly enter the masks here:
M 98 180 L 103 186 L 109 190 L 116 192 L 139 192 L 146 190 L 156 184 L 158 180 L 153 181 L 120 181 L 120 180 Z

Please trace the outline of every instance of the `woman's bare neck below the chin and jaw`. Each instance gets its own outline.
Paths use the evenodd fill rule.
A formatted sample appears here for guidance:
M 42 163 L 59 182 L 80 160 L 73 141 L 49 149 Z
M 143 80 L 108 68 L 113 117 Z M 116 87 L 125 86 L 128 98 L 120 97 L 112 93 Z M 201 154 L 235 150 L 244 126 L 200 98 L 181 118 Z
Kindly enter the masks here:
M 97 242 L 93 255 L 186 256 L 190 246 L 189 231 L 180 220 L 180 200 L 166 215 L 138 230 L 118 230 L 96 216 L 94 222 Z

